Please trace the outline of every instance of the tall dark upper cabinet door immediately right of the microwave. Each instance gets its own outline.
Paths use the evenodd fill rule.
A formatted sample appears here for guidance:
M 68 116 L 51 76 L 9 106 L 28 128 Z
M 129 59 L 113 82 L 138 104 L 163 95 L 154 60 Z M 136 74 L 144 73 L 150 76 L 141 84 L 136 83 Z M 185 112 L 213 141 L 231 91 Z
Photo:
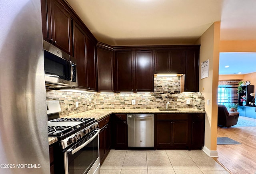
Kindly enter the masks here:
M 74 58 L 77 60 L 78 87 L 86 89 L 85 71 L 85 34 L 83 30 L 74 22 Z

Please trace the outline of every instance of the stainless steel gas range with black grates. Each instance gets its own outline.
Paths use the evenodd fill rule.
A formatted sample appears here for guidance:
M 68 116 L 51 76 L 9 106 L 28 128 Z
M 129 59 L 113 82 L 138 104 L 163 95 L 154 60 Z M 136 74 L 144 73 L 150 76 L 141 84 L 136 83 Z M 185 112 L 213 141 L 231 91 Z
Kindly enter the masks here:
M 48 121 L 48 136 L 57 137 L 54 168 L 65 174 L 100 174 L 99 125 L 92 118 Z

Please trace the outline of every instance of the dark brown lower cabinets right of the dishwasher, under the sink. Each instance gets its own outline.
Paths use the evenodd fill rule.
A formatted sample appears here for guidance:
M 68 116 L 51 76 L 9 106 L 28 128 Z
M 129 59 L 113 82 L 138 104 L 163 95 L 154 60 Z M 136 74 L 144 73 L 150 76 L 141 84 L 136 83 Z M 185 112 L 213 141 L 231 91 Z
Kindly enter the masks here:
M 156 149 L 201 149 L 204 146 L 204 113 L 156 114 Z

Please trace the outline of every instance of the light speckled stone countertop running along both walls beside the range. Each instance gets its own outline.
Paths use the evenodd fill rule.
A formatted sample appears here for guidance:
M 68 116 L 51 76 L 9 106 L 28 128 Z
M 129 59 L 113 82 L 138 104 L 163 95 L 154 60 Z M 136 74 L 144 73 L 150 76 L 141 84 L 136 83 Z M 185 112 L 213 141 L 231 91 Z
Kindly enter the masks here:
M 67 116 L 66 118 L 95 118 L 97 121 L 104 119 L 104 117 L 116 113 L 116 114 L 141 114 L 141 113 L 206 113 L 205 111 L 198 109 L 183 109 L 177 108 L 178 111 L 159 111 L 159 109 L 93 109 L 82 113 Z M 55 140 L 56 139 L 56 140 Z M 57 141 L 57 138 L 49 137 L 49 145 Z

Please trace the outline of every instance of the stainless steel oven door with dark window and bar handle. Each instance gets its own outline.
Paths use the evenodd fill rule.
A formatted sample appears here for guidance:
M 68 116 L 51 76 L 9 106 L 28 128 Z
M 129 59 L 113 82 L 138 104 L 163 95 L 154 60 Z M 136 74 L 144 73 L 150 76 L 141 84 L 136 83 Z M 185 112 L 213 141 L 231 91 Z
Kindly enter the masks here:
M 65 174 L 100 174 L 99 130 L 64 152 Z M 88 138 L 88 136 L 87 136 Z

